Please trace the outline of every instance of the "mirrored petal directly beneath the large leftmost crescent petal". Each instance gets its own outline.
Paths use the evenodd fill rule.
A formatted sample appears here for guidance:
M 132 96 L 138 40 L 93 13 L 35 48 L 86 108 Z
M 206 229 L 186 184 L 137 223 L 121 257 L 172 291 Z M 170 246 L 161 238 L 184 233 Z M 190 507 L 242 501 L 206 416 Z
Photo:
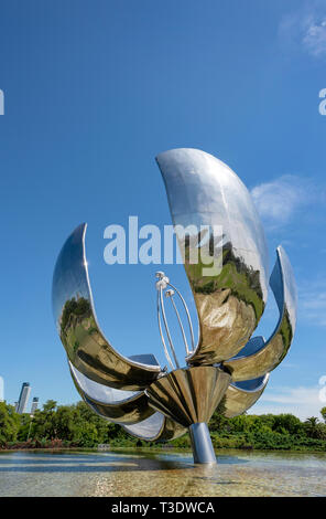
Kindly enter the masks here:
M 132 394 L 130 391 L 107 388 L 87 379 L 70 362 L 69 367 L 74 384 L 82 399 L 93 411 L 110 422 L 135 424 L 154 413 L 143 391 Z

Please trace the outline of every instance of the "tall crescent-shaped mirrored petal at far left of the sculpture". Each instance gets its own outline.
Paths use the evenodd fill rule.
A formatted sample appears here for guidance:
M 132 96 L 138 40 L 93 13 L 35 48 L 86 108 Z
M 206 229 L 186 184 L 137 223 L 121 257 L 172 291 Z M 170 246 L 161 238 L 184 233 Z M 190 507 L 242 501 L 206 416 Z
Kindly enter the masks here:
M 86 224 L 67 239 L 57 258 L 52 287 L 53 313 L 72 364 L 95 382 L 121 390 L 142 390 L 161 372 L 153 356 L 148 363 L 127 359 L 107 341 L 97 322 L 85 255 Z

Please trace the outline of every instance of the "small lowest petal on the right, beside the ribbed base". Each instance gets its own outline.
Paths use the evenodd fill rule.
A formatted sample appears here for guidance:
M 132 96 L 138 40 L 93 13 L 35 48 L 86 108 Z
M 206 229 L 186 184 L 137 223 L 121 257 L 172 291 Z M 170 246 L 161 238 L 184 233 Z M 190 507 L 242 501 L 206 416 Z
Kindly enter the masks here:
M 258 379 L 230 384 L 225 396 L 225 416 L 232 419 L 233 416 L 246 413 L 264 391 L 269 377 L 270 374 L 267 373 L 264 377 L 259 377 Z

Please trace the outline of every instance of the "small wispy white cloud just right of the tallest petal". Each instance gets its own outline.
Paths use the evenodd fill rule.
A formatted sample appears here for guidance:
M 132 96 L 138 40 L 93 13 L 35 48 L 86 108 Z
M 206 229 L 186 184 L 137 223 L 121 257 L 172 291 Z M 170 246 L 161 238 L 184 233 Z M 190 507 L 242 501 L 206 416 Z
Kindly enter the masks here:
M 260 215 L 278 226 L 311 203 L 314 189 L 305 179 L 284 174 L 272 182 L 256 186 L 251 195 Z

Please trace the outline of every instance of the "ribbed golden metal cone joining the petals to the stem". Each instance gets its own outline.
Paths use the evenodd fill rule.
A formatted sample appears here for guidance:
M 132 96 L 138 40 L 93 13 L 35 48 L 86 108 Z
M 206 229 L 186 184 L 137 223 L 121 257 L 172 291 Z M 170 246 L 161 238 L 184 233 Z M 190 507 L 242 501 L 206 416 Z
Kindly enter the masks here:
M 228 373 L 213 366 L 183 368 L 153 382 L 145 394 L 152 407 L 188 427 L 209 421 L 230 380 Z

